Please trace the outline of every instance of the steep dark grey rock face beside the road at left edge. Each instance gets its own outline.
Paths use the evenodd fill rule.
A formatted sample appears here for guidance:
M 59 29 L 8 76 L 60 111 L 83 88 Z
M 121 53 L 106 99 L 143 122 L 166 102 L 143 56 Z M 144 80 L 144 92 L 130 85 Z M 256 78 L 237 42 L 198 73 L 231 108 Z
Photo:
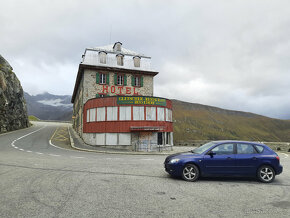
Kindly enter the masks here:
M 0 133 L 29 126 L 23 89 L 12 70 L 0 55 Z

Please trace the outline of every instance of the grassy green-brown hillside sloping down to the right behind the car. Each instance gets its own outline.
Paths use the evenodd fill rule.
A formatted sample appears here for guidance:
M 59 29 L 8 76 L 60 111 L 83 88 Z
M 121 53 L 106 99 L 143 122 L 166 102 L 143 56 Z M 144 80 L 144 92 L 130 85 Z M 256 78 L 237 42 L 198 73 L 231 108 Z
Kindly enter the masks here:
M 174 141 L 249 140 L 290 142 L 290 121 L 172 100 Z

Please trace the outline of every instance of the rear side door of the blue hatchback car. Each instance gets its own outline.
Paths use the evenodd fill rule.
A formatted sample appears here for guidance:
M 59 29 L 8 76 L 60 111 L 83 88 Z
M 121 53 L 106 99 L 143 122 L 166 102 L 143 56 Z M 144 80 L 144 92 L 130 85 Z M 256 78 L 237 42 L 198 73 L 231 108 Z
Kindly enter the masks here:
M 259 162 L 259 153 L 252 144 L 237 143 L 237 174 L 255 175 Z

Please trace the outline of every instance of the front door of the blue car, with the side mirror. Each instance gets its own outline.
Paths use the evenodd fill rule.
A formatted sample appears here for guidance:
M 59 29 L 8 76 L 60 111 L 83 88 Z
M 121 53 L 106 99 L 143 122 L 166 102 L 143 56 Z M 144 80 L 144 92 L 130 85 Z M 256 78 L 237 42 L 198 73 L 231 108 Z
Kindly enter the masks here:
M 204 155 L 203 172 L 216 175 L 234 174 L 235 161 L 234 143 L 217 145 Z

